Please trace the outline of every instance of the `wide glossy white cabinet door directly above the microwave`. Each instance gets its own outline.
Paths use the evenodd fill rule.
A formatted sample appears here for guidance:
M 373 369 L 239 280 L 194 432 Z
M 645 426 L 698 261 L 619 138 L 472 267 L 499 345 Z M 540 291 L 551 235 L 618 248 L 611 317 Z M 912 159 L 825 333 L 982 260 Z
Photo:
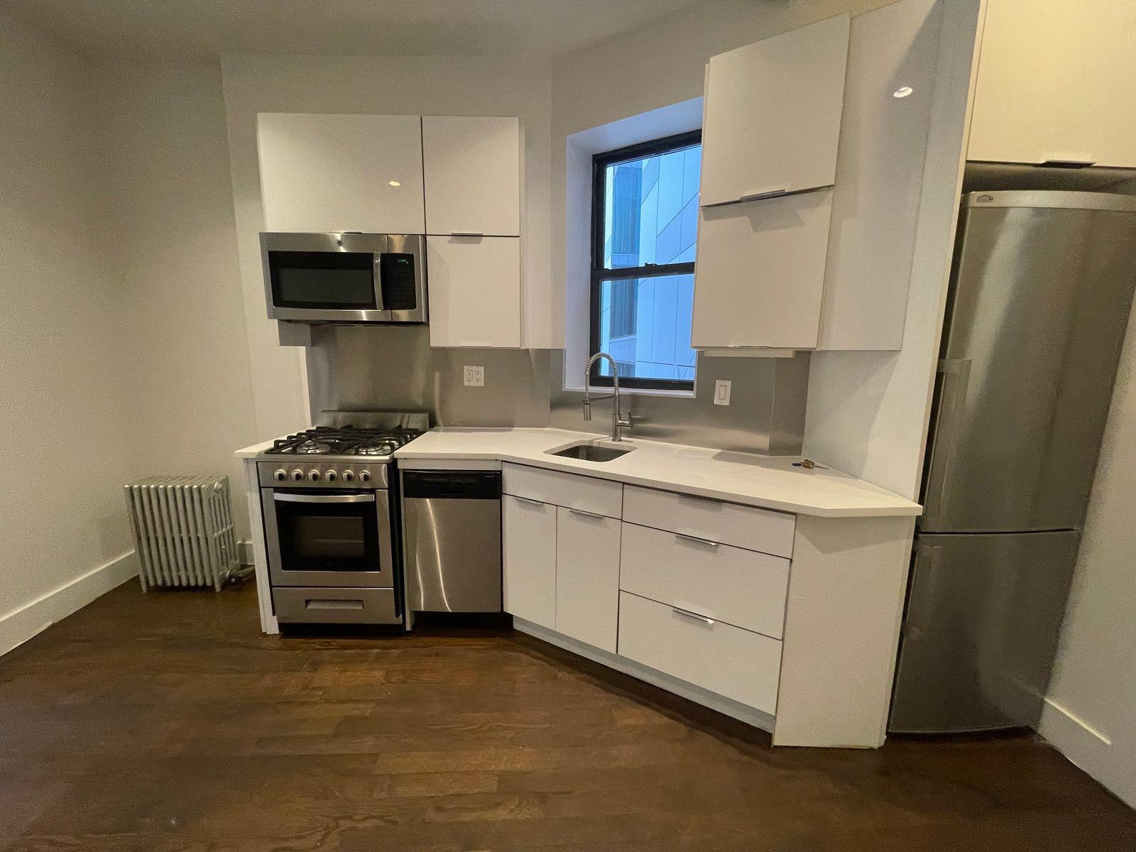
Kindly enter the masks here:
M 266 231 L 421 234 L 418 116 L 257 116 Z

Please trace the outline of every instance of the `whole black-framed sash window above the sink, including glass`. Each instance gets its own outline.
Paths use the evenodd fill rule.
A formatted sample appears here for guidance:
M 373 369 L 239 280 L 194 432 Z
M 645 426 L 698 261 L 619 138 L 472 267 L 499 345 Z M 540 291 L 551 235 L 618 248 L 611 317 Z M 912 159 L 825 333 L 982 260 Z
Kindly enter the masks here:
M 701 131 L 596 154 L 592 166 L 591 351 L 619 384 L 694 390 L 691 349 Z M 595 365 L 592 384 L 611 385 Z

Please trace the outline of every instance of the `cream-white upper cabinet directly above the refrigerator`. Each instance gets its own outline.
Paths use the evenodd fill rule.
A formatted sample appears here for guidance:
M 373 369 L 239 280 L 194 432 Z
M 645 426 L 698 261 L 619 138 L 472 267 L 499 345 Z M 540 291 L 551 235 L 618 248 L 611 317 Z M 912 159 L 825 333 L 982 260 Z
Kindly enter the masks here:
M 988 0 L 967 159 L 1136 167 L 1134 73 L 1131 0 Z

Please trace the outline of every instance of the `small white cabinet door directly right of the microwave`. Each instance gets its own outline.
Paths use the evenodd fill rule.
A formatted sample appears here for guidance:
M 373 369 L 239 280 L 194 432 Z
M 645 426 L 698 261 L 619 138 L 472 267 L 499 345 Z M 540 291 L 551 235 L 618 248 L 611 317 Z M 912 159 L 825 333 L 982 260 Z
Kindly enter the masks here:
M 426 237 L 432 346 L 520 346 L 520 239 Z

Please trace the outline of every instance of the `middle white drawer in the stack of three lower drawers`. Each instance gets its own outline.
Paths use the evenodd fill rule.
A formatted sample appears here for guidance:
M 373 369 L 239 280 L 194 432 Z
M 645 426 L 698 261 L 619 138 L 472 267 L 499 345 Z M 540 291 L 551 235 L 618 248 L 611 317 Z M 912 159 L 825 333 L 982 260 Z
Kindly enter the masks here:
M 619 587 L 780 638 L 788 560 L 625 523 Z

